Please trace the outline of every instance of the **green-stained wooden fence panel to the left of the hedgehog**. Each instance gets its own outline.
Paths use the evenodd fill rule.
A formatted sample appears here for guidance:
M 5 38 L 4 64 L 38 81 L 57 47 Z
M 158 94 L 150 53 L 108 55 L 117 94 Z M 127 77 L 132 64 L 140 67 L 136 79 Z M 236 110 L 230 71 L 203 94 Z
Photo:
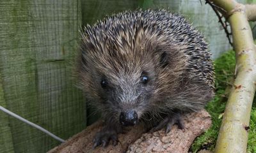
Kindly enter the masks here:
M 81 1 L 0 1 L 0 8 L 0 104 L 61 138 L 78 133 L 86 126 L 86 105 L 71 62 Z M 60 143 L 3 112 L 0 117 L 0 152 L 46 152 Z

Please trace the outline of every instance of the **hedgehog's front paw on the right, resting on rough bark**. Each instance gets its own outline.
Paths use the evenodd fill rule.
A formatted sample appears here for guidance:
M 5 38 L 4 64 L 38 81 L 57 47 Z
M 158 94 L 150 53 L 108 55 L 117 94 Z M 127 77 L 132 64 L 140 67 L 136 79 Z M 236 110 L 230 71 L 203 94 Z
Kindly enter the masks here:
M 164 117 L 164 119 L 161 120 L 161 122 L 159 122 L 159 124 L 156 127 L 152 128 L 150 132 L 153 133 L 166 127 L 165 133 L 169 133 L 174 124 L 177 124 L 179 129 L 184 129 L 184 120 L 182 119 L 180 113 L 172 113 L 172 115 Z

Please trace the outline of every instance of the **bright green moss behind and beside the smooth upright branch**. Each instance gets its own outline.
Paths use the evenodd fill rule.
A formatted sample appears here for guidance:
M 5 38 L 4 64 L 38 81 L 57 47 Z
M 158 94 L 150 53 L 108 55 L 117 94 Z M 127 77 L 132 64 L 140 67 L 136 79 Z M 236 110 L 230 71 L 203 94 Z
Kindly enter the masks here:
M 233 50 L 223 54 L 220 58 L 214 61 L 214 68 L 216 71 L 216 96 L 206 106 L 207 112 L 211 114 L 212 126 L 204 135 L 196 138 L 191 149 L 197 152 L 200 149 L 214 150 L 218 131 L 221 125 L 221 119 L 225 110 L 227 97 L 225 92 L 232 81 L 234 75 L 234 68 L 236 65 L 236 55 Z M 247 152 L 256 152 L 256 102 L 253 102 L 253 108 L 250 120 L 250 131 L 248 136 L 248 149 Z

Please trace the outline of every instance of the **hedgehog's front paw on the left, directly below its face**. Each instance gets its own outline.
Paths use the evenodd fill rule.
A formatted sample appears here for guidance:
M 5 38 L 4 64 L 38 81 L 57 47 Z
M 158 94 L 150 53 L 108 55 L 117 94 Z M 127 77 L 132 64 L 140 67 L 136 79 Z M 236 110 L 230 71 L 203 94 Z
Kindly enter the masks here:
M 107 147 L 108 143 L 112 140 L 113 145 L 116 145 L 118 142 L 117 132 L 114 129 L 102 129 L 98 132 L 93 139 L 93 149 L 95 147 L 102 145 L 102 147 Z

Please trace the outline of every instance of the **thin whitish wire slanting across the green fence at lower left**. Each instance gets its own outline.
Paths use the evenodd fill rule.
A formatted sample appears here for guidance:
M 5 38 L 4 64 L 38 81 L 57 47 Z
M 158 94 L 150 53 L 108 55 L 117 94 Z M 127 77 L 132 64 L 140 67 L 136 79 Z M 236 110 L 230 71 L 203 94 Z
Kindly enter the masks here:
M 7 110 L 3 106 L 0 106 L 0 110 L 2 110 L 5 113 L 8 113 L 9 115 L 11 115 L 12 117 L 15 117 L 16 119 L 21 120 L 22 122 L 25 122 L 26 124 L 29 124 L 30 126 L 33 126 L 36 129 L 39 129 L 40 131 L 46 133 L 47 135 L 51 136 L 52 138 L 54 138 L 54 139 L 56 139 L 60 142 L 65 142 L 65 140 L 63 140 L 63 139 L 59 138 L 58 136 L 52 134 L 51 132 L 47 131 L 46 129 L 42 128 L 41 126 L 38 126 L 38 125 L 34 124 L 33 122 L 30 122 L 29 120 L 26 120 L 26 119 L 20 117 L 16 113 L 13 113 L 10 110 Z

